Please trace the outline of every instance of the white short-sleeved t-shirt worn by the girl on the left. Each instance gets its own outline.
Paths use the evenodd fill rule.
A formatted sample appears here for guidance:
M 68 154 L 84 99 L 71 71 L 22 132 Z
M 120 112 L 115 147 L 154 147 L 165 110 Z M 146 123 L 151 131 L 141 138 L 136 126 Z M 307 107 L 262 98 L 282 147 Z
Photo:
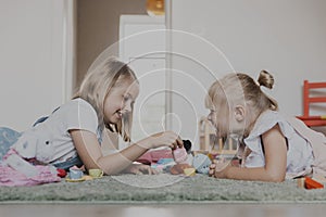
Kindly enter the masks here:
M 74 99 L 61 105 L 43 123 L 26 130 L 13 148 L 25 158 L 36 157 L 47 164 L 61 163 L 77 156 L 68 130 L 88 130 L 100 140 L 98 127 L 95 108 L 83 99 Z

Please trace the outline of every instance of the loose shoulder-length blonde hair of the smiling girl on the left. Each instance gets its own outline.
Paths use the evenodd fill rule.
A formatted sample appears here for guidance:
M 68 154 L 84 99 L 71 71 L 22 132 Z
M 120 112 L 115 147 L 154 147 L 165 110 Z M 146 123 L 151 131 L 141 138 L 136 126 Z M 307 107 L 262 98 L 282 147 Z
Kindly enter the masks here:
M 86 74 L 74 99 L 82 98 L 92 105 L 98 114 L 101 130 L 106 127 L 113 132 L 118 132 L 124 141 L 130 141 L 133 111 L 126 116 L 123 116 L 117 124 L 110 125 L 104 123 L 104 100 L 111 89 L 125 79 L 131 79 L 138 82 L 134 71 L 126 63 L 113 56 L 109 58 Z

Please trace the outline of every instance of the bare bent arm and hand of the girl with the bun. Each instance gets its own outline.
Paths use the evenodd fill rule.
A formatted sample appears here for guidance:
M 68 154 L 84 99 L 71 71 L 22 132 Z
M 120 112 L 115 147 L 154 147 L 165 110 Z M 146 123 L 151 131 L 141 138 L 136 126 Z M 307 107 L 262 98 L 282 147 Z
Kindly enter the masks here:
M 210 174 L 216 178 L 260 180 L 260 181 L 284 181 L 287 165 L 287 144 L 278 125 L 262 136 L 265 150 L 265 166 L 256 168 L 241 168 L 235 166 L 223 167 L 215 163 L 211 166 Z M 225 165 L 224 165 L 225 166 Z M 214 171 L 212 170 L 214 168 Z M 218 171 L 222 168 L 221 171 Z

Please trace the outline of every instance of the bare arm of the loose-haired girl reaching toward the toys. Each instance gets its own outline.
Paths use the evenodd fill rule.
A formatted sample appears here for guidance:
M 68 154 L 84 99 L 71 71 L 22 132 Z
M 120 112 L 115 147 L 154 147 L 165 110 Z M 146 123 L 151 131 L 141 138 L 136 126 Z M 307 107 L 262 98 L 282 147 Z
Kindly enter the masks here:
M 103 156 L 95 133 L 76 129 L 71 130 L 71 136 L 86 168 L 101 168 L 108 175 L 123 171 L 149 149 L 159 146 L 175 149 L 176 145 L 183 145 L 177 135 L 167 131 L 146 138 L 121 152 Z

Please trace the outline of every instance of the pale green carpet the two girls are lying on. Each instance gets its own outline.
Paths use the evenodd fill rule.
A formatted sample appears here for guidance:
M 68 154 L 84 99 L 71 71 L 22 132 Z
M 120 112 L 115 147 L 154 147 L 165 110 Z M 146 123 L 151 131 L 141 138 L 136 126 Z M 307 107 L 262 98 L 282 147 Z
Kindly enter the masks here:
M 326 189 L 281 183 L 161 175 L 105 176 L 83 182 L 0 187 L 0 203 L 325 203 Z

